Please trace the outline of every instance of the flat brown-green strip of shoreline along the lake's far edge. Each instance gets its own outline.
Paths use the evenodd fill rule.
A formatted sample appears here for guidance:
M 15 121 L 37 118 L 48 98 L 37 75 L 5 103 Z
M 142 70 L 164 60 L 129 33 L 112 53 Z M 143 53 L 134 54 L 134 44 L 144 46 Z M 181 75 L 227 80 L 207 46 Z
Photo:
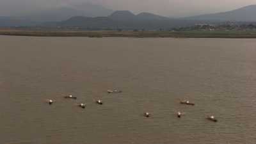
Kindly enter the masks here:
M 256 31 L 32 31 L 0 29 L 0 35 L 9 36 L 84 36 L 132 38 L 256 38 Z

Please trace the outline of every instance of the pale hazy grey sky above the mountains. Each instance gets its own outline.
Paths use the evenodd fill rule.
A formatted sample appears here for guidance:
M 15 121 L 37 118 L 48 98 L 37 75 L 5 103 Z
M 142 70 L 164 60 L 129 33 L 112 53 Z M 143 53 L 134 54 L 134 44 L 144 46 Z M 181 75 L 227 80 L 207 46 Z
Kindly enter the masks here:
M 0 15 L 28 13 L 81 2 L 101 4 L 113 10 L 152 12 L 170 17 L 223 12 L 256 4 L 256 0 L 0 0 Z

